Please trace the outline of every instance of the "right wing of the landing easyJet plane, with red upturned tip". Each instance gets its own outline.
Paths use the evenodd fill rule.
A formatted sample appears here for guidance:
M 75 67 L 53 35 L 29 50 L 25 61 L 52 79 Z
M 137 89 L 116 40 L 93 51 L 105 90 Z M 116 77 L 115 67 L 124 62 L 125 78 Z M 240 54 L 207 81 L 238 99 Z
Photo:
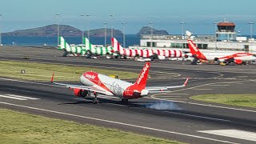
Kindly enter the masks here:
M 168 89 L 185 87 L 188 81 L 189 81 L 189 77 L 186 78 L 186 81 L 183 83 L 183 85 L 180 85 L 180 86 L 149 86 L 149 87 L 146 87 L 146 90 L 149 90 L 151 93 L 166 92 L 165 90 L 168 90 Z

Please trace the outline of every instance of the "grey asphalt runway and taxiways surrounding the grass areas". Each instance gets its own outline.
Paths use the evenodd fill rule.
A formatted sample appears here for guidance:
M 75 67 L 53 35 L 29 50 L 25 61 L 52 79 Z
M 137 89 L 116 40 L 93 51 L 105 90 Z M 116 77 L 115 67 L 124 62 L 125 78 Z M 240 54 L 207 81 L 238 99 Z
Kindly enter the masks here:
M 17 48 L 16 48 L 17 49 Z M 53 62 L 139 72 L 144 62 L 62 58 L 56 50 L 0 49 L 0 59 Z M 4 52 L 3 52 L 4 51 Z M 11 52 L 10 52 L 11 51 Z M 23 59 L 24 54 L 30 59 Z M 60 54 L 60 55 L 58 55 Z M 189 62 L 151 62 L 148 86 L 179 85 L 184 89 L 151 94 L 122 105 L 120 99 L 102 97 L 99 105 L 75 98 L 72 91 L 50 82 L 23 82 L 0 78 L 0 106 L 98 126 L 114 127 L 189 143 L 254 143 L 256 110 L 190 100 L 197 94 L 256 94 L 255 66 L 191 66 Z M 133 80 L 130 80 L 133 81 Z M 22 96 L 22 97 L 21 97 Z M 16 99 L 14 99 L 16 98 Z

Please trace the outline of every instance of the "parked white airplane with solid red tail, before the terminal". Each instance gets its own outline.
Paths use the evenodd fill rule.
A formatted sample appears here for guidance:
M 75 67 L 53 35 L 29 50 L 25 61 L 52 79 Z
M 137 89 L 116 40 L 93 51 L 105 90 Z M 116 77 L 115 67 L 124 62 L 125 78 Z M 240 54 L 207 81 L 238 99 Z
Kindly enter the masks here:
M 190 36 L 192 33 L 186 30 L 186 35 L 189 37 L 188 45 L 190 48 L 191 56 L 194 57 L 194 61 L 192 64 L 196 64 L 198 60 L 205 60 L 205 61 L 217 61 L 217 62 L 225 62 L 229 64 L 230 62 L 234 62 L 236 64 L 242 64 L 243 62 L 251 62 L 255 61 L 256 57 L 253 54 L 249 53 L 237 53 L 237 52 L 229 52 L 229 53 L 202 53 L 197 46 L 195 46 Z

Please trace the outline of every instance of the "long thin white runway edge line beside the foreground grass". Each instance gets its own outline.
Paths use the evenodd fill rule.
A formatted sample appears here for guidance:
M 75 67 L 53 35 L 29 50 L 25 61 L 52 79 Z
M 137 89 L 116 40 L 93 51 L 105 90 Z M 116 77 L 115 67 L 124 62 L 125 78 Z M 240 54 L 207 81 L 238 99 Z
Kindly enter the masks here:
M 78 118 L 91 119 L 91 120 L 100 121 L 100 122 L 108 122 L 108 123 L 118 124 L 118 125 L 122 125 L 122 126 L 132 126 L 132 127 L 140 128 L 140 129 L 144 129 L 144 130 L 154 130 L 154 131 L 168 133 L 168 134 L 178 134 L 178 135 L 182 135 L 182 136 L 186 136 L 186 137 L 201 138 L 201 139 L 206 139 L 206 140 L 210 140 L 210 141 L 214 141 L 214 142 L 235 143 L 235 142 L 229 142 L 229 141 L 222 141 L 222 140 L 214 139 L 214 138 L 206 138 L 206 137 L 202 137 L 202 136 L 198 136 L 198 135 L 183 134 L 183 133 L 178 133 L 178 132 L 169 131 L 169 130 L 161 130 L 161 129 L 156 129 L 156 128 L 152 128 L 152 127 L 138 126 L 138 125 L 133 125 L 133 124 L 124 123 L 124 122 L 115 122 L 115 121 L 110 121 L 110 120 L 101 119 L 101 118 L 93 118 L 93 117 L 87 117 L 87 116 L 82 116 L 82 115 L 77 115 L 77 114 L 69 114 L 69 113 L 64 113 L 64 112 L 59 112 L 59 111 L 54 111 L 54 110 L 46 110 L 46 109 L 41 109 L 41 108 L 31 107 L 31 106 L 22 106 L 22 105 L 17 105 L 14 103 L 8 103 L 8 102 L 0 102 L 0 103 L 2 103 L 4 105 L 9 105 L 9 106 L 23 107 L 23 108 L 27 108 L 27 109 L 31 109 L 31 110 L 41 110 L 41 111 L 46 111 L 46 112 L 50 112 L 50 113 L 54 113 L 54 114 L 63 114 L 63 115 L 69 115 L 69 116 L 78 117 Z

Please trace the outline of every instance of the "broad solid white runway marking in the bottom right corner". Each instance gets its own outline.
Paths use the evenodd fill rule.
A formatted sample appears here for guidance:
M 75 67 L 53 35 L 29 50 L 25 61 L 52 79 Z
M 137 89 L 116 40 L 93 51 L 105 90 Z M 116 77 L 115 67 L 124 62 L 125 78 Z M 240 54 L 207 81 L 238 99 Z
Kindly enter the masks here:
M 243 130 L 201 130 L 200 133 L 221 135 L 256 142 L 256 133 Z

